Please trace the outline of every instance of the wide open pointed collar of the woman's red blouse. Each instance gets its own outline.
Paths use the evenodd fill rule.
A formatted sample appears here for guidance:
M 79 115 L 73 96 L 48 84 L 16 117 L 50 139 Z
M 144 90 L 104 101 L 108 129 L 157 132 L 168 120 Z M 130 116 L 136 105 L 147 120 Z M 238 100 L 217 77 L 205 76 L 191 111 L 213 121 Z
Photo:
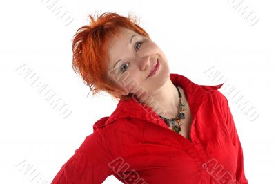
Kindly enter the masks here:
M 173 84 L 175 84 L 175 86 L 180 86 L 184 90 L 193 118 L 197 115 L 197 111 L 199 110 L 201 103 L 204 101 L 206 93 L 217 90 L 223 85 L 198 85 L 189 80 L 187 77 L 176 73 L 170 73 L 170 80 Z M 110 117 L 104 117 L 95 122 L 93 129 L 95 131 L 99 129 L 99 127 L 106 126 L 112 122 L 115 122 L 115 120 L 122 118 L 137 118 L 168 128 L 165 122 L 157 116 L 155 111 L 146 105 L 139 104 L 137 100 L 131 98 L 129 100 L 119 100 L 115 111 L 110 115 Z

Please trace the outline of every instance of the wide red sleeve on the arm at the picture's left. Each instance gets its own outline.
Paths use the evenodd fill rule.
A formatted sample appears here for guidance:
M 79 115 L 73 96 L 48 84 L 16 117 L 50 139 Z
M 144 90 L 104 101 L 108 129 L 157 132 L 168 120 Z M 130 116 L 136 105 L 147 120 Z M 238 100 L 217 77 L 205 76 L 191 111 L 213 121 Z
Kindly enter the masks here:
M 112 174 L 104 140 L 98 132 L 87 136 L 75 154 L 62 165 L 52 184 L 103 183 Z

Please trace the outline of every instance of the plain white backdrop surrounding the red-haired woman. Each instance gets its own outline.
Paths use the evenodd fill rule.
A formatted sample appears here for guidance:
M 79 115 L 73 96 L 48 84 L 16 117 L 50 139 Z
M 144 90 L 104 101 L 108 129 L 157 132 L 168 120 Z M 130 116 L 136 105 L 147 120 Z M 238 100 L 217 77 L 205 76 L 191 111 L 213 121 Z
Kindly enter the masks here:
M 237 3 L 237 1 L 236 1 Z M 164 51 L 171 73 L 197 84 L 213 85 L 204 71 L 215 67 L 235 86 L 259 117 L 252 121 L 229 100 L 244 149 L 250 184 L 275 183 L 274 1 L 243 1 L 254 12 L 252 26 L 231 1 L 57 1 L 73 21 L 59 19 L 44 1 L 1 3 L 0 183 L 35 183 L 17 167 L 25 161 L 48 183 L 75 153 L 92 125 L 110 116 L 110 95 L 87 97 L 88 86 L 72 71 L 72 36 L 96 10 L 135 13 L 140 26 Z M 72 111 L 63 118 L 18 68 L 28 66 Z M 220 89 L 224 93 L 223 89 Z M 37 179 L 37 178 L 36 178 Z M 42 183 L 42 182 L 41 182 Z M 120 183 L 113 176 L 104 183 Z

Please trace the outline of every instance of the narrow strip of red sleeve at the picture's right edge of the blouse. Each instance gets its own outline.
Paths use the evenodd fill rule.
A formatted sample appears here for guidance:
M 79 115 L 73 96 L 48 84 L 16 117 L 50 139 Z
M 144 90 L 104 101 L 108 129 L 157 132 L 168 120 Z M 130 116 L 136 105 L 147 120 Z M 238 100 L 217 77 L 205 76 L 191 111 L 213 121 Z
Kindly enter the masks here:
M 220 92 L 219 92 L 220 93 Z M 222 95 L 222 94 L 221 94 Z M 228 132 L 230 134 L 230 138 L 233 142 L 233 145 L 236 149 L 236 156 L 237 156 L 237 169 L 236 169 L 236 181 L 239 182 L 239 184 L 248 184 L 248 180 L 245 177 L 244 174 L 244 155 L 243 155 L 243 150 L 242 150 L 242 145 L 239 140 L 239 136 L 237 134 L 237 129 L 235 126 L 235 122 L 233 120 L 232 113 L 230 111 L 230 107 L 228 104 L 227 98 L 222 95 L 223 97 L 223 107 L 224 107 L 224 112 L 226 113 L 226 125 L 228 128 Z

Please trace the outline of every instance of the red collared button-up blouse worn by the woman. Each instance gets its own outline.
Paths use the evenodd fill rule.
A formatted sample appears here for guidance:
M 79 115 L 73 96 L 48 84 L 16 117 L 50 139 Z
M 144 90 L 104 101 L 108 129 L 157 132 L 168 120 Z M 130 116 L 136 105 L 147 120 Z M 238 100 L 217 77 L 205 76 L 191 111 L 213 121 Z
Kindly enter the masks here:
M 62 165 L 52 183 L 103 183 L 113 175 L 122 183 L 248 183 L 243 151 L 223 84 L 204 86 L 179 74 L 193 122 L 191 141 L 170 130 L 148 106 L 120 100 L 109 117 Z

